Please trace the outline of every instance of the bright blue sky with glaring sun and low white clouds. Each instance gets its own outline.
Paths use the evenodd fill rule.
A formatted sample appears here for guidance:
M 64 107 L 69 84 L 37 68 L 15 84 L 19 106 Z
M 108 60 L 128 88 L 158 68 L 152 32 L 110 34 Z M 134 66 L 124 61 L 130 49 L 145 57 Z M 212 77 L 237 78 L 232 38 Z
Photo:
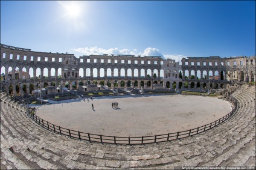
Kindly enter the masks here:
M 255 1 L 1 1 L 1 43 L 75 56 L 255 55 Z

